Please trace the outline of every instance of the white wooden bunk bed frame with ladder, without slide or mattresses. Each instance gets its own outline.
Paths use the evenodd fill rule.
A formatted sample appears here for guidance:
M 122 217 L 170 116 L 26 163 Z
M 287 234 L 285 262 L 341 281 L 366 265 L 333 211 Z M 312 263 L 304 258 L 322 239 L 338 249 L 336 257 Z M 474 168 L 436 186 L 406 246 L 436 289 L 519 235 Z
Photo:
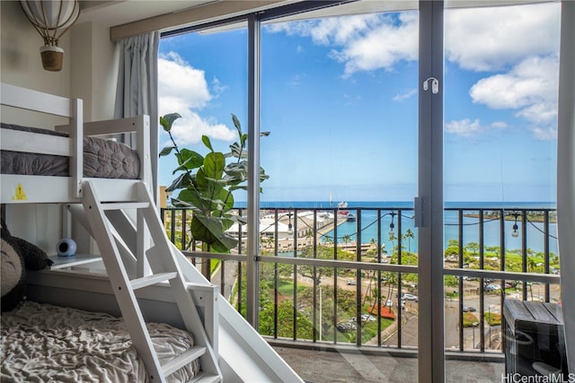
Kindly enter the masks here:
M 165 235 L 148 187 L 152 184 L 149 118 L 84 123 L 82 100 L 5 83 L 1 84 L 1 101 L 2 105 L 69 118 L 70 122 L 57 126 L 69 137 L 39 137 L 2 129 L 3 150 L 63 155 L 70 160 L 69 177 L 2 174 L 2 204 L 63 204 L 92 235 L 101 253 L 55 257 L 57 262 L 51 270 L 29 273 L 28 299 L 122 315 L 152 382 L 166 381 L 174 371 L 198 358 L 201 372 L 192 381 L 221 381 L 217 286 L 186 283 Z M 84 135 L 130 132 L 137 133 L 139 178 L 84 178 Z M 69 222 L 64 215 L 63 222 Z M 194 338 L 194 346 L 161 365 L 145 320 L 186 329 Z

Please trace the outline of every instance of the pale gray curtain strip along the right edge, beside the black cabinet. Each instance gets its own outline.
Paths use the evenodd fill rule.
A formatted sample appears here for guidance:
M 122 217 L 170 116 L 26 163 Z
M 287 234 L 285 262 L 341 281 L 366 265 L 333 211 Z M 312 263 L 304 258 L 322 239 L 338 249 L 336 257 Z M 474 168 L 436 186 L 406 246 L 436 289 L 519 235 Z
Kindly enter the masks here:
M 557 129 L 557 230 L 562 313 L 570 372 L 575 372 L 575 2 L 562 1 Z M 565 379 L 567 377 L 564 377 Z

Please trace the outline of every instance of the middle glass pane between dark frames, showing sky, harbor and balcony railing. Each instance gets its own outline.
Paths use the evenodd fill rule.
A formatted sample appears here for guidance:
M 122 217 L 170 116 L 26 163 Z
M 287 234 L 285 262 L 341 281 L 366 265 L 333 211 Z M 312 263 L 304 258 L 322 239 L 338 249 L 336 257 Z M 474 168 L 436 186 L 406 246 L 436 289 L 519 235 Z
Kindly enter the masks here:
M 390 5 L 263 22 L 261 214 L 292 227 L 261 249 L 266 335 L 417 350 L 419 12 Z

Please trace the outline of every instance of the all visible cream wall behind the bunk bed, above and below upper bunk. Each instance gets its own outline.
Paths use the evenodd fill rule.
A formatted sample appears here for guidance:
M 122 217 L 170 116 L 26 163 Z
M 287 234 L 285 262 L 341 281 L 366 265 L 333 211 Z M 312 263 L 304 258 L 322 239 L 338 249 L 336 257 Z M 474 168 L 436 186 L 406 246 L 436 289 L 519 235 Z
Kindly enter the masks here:
M 64 48 L 61 72 L 42 68 L 40 46 L 43 40 L 26 18 L 19 2 L 0 1 L 1 45 L 0 81 L 63 97 L 84 100 L 84 120 L 113 117 L 116 79 L 115 44 L 108 28 L 94 22 L 76 24 L 59 41 Z M 52 128 L 66 120 L 11 108 L 0 109 L 3 122 Z M 1 138 L 0 138 L 1 139 Z M 27 239 L 49 254 L 56 254 L 62 238 L 59 205 L 7 205 L 6 224 L 13 235 Z M 85 232 L 74 230 L 79 251 L 90 247 Z

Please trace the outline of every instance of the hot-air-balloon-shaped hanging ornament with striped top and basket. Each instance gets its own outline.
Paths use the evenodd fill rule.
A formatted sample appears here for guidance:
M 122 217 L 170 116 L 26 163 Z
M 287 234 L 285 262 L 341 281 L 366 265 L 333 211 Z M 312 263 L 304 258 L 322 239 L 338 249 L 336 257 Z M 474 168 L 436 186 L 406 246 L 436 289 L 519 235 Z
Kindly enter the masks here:
M 79 1 L 21 0 L 20 5 L 28 20 L 44 39 L 44 46 L 40 47 L 42 66 L 47 71 L 61 71 L 64 49 L 58 47 L 57 42 L 78 19 Z

